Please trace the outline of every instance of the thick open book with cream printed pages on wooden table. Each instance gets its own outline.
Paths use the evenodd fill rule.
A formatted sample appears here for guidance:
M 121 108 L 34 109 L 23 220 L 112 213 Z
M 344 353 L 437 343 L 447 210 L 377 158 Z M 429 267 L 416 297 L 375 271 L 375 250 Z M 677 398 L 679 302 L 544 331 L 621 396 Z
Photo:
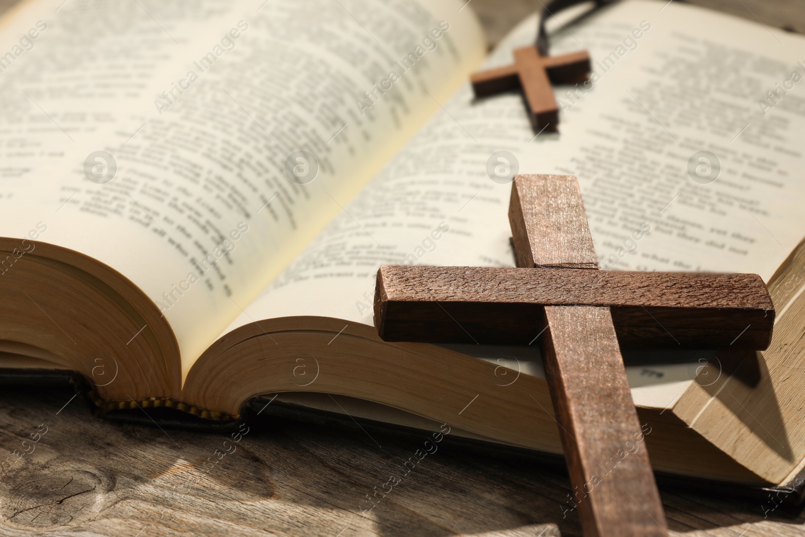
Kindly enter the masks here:
M 519 93 L 467 83 L 535 19 L 487 57 L 452 0 L 60 3 L 0 20 L 6 379 L 559 453 L 536 320 L 509 346 L 387 343 L 373 297 L 382 265 L 514 266 L 495 167 L 572 174 L 601 268 L 751 272 L 774 299 L 763 353 L 624 351 L 654 468 L 800 484 L 803 37 L 677 2 L 570 14 L 554 52 L 593 73 L 538 134 Z

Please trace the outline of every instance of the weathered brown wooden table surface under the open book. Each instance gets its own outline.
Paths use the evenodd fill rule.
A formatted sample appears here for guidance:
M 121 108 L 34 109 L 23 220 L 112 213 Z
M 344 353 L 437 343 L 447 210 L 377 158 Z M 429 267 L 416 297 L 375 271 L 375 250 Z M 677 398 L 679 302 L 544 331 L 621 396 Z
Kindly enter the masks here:
M 13 3 L 0 0 L 0 13 Z M 805 31 L 805 2 L 695 3 Z M 538 4 L 472 5 L 495 42 Z M 424 439 L 266 418 L 204 473 L 222 436 L 111 423 L 72 395 L 0 386 L 0 460 L 47 427 L 0 478 L 0 535 L 580 535 L 577 515 L 563 518 L 561 469 L 443 444 L 362 517 L 361 500 Z M 671 535 L 805 535 L 802 514 L 766 518 L 759 502 L 661 493 Z

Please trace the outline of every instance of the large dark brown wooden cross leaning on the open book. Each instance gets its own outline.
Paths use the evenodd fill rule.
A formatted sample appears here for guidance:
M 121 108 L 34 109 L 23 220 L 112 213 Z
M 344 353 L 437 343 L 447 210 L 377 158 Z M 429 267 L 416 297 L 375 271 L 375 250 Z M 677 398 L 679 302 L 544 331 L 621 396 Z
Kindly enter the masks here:
M 584 535 L 667 535 L 621 345 L 766 349 L 774 306 L 758 275 L 597 271 L 573 176 L 518 176 L 509 208 L 518 267 L 383 266 L 375 324 L 386 341 L 505 343 L 541 338 L 559 436 Z M 547 329 L 546 329 L 547 328 Z M 591 485 L 592 483 L 592 485 Z

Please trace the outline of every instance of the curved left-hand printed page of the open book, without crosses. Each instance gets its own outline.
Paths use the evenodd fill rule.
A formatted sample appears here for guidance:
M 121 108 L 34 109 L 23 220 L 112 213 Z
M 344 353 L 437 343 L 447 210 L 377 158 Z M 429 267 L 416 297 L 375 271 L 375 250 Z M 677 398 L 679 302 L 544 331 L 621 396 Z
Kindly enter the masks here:
M 60 3 L 3 25 L 0 235 L 126 275 L 185 373 L 484 48 L 457 0 Z

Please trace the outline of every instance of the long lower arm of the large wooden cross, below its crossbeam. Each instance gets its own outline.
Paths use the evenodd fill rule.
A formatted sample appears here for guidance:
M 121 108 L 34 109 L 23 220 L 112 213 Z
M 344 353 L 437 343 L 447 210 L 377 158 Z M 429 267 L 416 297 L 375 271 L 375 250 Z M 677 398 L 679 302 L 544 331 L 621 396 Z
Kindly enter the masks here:
M 543 363 L 584 535 L 667 535 L 609 308 L 545 308 Z

